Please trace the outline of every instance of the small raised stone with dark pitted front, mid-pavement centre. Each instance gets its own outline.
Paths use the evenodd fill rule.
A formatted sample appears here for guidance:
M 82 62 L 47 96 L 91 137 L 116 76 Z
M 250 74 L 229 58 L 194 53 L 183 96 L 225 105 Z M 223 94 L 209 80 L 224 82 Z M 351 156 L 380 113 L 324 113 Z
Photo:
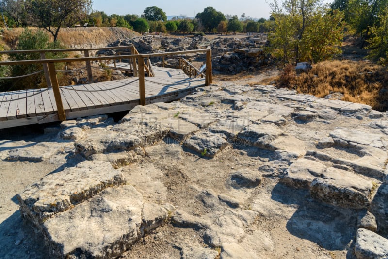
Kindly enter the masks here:
M 190 139 L 184 141 L 183 145 L 205 157 L 213 158 L 226 146 L 229 146 L 229 143 L 224 134 L 205 131 L 191 136 Z

